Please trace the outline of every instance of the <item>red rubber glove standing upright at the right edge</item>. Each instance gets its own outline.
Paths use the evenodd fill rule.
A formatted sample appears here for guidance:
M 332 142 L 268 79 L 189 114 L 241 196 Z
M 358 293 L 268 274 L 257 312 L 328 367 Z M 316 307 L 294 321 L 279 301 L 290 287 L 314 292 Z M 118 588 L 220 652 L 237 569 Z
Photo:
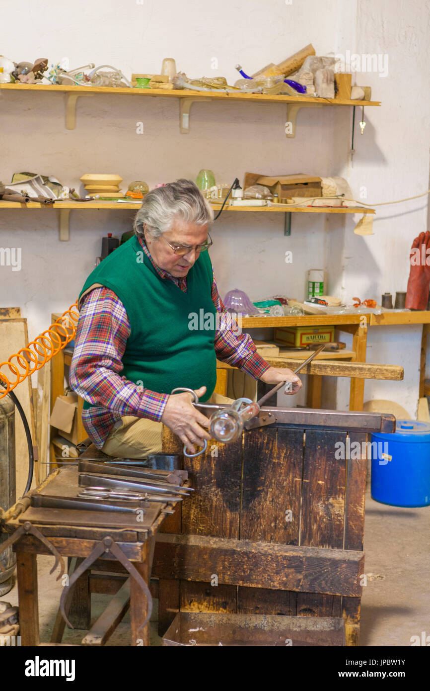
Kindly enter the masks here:
M 424 245 L 424 249 L 422 248 Z M 418 252 L 413 249 L 418 248 Z M 424 260 L 424 261 L 423 261 Z M 429 302 L 430 287 L 430 232 L 420 233 L 415 238 L 409 255 L 411 271 L 406 292 L 405 307 L 408 310 L 425 310 Z

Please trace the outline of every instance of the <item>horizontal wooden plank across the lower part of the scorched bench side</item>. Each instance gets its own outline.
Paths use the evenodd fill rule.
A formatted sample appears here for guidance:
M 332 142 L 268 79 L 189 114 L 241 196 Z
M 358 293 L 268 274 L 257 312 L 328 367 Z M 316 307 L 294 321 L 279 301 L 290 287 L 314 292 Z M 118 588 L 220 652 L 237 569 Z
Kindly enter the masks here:
M 154 573 L 160 578 L 206 584 L 216 575 L 219 585 L 243 585 L 259 591 L 358 596 L 363 565 L 362 551 L 160 533 Z M 263 591 L 261 594 L 264 598 Z

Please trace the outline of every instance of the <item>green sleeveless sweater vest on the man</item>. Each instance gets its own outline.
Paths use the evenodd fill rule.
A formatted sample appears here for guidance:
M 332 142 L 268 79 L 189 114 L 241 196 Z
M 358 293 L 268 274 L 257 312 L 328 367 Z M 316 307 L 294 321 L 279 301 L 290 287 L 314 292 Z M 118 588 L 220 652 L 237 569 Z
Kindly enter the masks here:
M 201 398 L 206 401 L 216 383 L 212 281 L 211 259 L 202 252 L 187 274 L 184 293 L 169 278 L 157 274 L 134 236 L 92 271 L 79 299 L 99 283 L 113 290 L 123 303 L 130 337 L 121 375 L 159 393 L 170 393 L 177 386 L 206 386 Z M 195 330 L 197 323 L 199 329 Z M 85 401 L 84 408 L 90 407 Z

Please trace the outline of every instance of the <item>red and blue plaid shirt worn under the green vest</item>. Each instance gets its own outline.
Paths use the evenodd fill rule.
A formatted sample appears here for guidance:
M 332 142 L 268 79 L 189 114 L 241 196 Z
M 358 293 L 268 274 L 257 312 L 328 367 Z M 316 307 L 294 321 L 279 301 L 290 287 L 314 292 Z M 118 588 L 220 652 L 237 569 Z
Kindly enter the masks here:
M 175 278 L 155 265 L 145 243 L 139 238 L 161 278 L 176 283 L 186 292 L 186 277 Z M 217 359 L 259 379 L 269 365 L 257 353 L 248 334 L 235 334 L 225 328 L 228 317 L 222 318 L 225 307 L 217 290 L 215 274 L 212 282 L 212 301 L 219 312 L 221 328 L 215 332 L 214 348 Z M 75 337 L 75 350 L 70 366 L 70 386 L 94 407 L 84 410 L 82 422 L 97 448 L 115 423 L 125 415 L 146 417 L 159 422 L 164 413 L 168 394 L 151 391 L 121 377 L 121 358 L 130 335 L 130 322 L 124 305 L 106 287 L 95 287 L 81 303 Z

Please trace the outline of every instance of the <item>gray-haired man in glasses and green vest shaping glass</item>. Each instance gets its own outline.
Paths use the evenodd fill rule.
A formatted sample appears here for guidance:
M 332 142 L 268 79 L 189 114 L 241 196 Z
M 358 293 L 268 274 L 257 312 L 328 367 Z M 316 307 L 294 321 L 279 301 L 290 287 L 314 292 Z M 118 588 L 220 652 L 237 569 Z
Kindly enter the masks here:
M 292 393 L 302 386 L 291 370 L 269 366 L 247 334 L 217 330 L 225 308 L 207 252 L 211 221 L 190 180 L 153 189 L 135 236 L 94 269 L 79 295 L 70 385 L 84 398 L 88 436 L 108 455 L 161 451 L 162 423 L 195 453 L 210 438 L 208 419 L 190 394 L 170 392 L 186 387 L 216 401 L 217 358 L 267 384 L 291 381 Z M 213 318 L 195 330 L 190 315 L 200 310 Z

